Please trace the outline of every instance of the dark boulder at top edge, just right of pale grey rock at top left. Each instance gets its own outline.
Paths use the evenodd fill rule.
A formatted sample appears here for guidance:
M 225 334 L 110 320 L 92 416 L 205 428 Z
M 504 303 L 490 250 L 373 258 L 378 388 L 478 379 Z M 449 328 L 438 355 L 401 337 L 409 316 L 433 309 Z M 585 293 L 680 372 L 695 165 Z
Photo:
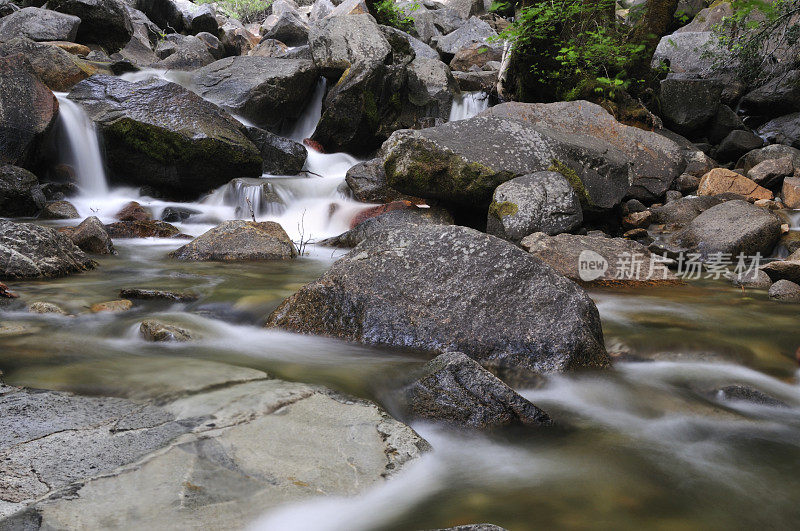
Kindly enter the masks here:
M 99 44 L 108 53 L 119 51 L 133 35 L 133 23 L 122 0 L 48 0 L 47 8 L 81 19 L 78 42 Z

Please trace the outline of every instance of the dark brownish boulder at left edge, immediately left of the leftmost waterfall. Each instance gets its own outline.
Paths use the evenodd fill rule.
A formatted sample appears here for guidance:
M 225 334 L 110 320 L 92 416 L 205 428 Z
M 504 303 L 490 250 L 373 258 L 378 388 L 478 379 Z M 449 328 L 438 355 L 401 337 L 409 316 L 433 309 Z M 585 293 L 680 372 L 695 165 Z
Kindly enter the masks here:
M 39 164 L 57 117 L 58 101 L 28 59 L 0 57 L 0 164 Z

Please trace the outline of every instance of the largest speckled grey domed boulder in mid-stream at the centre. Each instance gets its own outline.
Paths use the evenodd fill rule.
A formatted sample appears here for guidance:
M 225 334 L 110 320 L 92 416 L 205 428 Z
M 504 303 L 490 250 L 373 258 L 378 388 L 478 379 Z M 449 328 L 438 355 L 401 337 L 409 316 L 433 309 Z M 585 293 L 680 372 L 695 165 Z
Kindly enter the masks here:
M 608 364 L 597 308 L 582 289 L 516 246 L 466 227 L 373 234 L 286 299 L 266 326 L 460 351 L 519 377 Z

